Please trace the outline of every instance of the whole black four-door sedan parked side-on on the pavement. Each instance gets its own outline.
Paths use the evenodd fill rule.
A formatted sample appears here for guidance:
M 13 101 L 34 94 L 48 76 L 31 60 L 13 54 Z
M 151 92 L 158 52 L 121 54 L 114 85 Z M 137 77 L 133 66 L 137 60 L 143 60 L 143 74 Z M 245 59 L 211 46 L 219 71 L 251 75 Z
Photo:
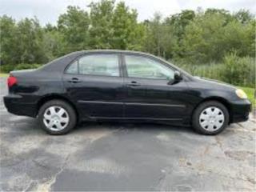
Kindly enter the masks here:
M 165 122 L 218 134 L 246 121 L 251 107 L 234 86 L 135 51 L 78 51 L 37 70 L 12 71 L 7 82 L 6 109 L 38 118 L 49 134 L 82 121 Z

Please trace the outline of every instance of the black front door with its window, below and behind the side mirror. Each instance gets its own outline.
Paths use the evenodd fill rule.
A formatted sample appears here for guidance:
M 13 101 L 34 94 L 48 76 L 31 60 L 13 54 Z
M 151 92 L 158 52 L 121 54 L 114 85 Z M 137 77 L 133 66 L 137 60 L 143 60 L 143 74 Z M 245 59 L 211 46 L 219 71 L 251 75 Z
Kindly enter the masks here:
M 124 54 L 125 117 L 182 120 L 186 114 L 186 82 L 170 84 L 174 70 L 154 58 Z

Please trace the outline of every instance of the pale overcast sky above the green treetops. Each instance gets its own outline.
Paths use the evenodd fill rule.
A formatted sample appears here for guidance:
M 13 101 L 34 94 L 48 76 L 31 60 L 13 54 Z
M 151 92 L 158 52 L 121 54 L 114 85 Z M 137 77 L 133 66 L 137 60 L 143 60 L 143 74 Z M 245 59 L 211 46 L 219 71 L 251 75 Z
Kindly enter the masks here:
M 79 6 L 88 10 L 90 2 L 99 0 L 0 0 L 0 15 L 6 14 L 16 20 L 36 16 L 42 25 L 56 24 L 58 15 L 66 12 L 67 6 Z M 120 0 L 116 0 L 119 2 Z M 150 19 L 155 12 L 163 17 L 177 14 L 181 10 L 197 10 L 202 7 L 219 8 L 231 12 L 240 9 L 256 14 L 256 0 L 122 0 L 138 11 L 138 20 Z

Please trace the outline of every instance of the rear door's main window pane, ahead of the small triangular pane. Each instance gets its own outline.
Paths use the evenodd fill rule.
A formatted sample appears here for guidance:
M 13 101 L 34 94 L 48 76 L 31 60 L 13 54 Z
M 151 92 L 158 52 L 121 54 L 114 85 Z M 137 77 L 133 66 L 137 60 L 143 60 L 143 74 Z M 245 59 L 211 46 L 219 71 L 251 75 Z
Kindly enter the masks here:
M 119 76 L 118 55 L 92 54 L 80 58 L 79 74 Z

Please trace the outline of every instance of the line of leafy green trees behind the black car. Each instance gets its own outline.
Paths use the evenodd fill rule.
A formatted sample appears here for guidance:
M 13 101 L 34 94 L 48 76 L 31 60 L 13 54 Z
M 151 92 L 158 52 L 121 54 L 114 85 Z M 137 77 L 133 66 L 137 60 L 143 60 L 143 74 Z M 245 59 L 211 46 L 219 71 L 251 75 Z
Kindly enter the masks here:
M 37 18 L 0 17 L 2 64 L 46 63 L 77 50 L 140 50 L 178 64 L 225 62 L 231 55 L 255 58 L 255 18 L 249 10 L 182 10 L 138 22 L 125 2 L 92 2 L 89 10 L 68 6 L 56 25 Z

